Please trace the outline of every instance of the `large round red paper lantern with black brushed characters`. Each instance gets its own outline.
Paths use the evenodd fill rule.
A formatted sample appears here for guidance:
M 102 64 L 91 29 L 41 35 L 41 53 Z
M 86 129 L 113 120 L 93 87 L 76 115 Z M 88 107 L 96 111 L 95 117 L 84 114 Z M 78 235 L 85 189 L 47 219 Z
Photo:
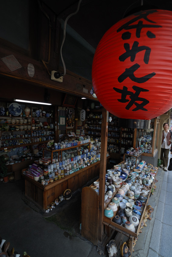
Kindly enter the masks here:
M 172 12 L 147 10 L 113 25 L 92 65 L 99 102 L 119 118 L 149 120 L 172 107 Z

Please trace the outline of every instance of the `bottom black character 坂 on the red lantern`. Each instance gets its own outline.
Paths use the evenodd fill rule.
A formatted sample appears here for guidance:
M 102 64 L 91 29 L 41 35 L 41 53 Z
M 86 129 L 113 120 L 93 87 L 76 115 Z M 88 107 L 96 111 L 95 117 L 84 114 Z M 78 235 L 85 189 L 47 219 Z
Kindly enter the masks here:
M 126 86 L 123 86 L 123 89 L 118 89 L 116 87 L 113 87 L 113 89 L 116 92 L 121 93 L 121 99 L 118 99 L 119 102 L 123 102 L 123 103 L 129 102 L 125 107 L 125 109 L 129 110 L 131 106 L 135 104 L 136 107 L 132 109 L 132 111 L 138 111 L 138 110 L 147 111 L 147 109 L 144 108 L 144 106 L 147 105 L 149 101 L 145 98 L 139 97 L 139 94 L 140 92 L 146 92 L 149 90 L 138 86 L 132 86 L 132 88 L 135 90 L 135 93 L 128 91 L 128 88 Z M 131 100 L 126 99 L 126 96 L 129 96 Z M 138 102 L 141 102 L 141 103 L 138 103 Z

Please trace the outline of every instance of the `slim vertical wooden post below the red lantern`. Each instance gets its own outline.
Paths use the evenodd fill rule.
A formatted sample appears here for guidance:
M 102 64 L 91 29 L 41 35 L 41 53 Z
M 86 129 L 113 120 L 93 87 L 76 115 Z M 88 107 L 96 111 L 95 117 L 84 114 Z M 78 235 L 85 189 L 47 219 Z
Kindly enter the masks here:
M 105 202 L 105 173 L 108 139 L 108 114 L 104 108 L 102 110 L 102 131 L 101 131 L 101 155 L 100 155 L 100 177 L 99 177 L 99 241 L 103 236 L 103 216 Z

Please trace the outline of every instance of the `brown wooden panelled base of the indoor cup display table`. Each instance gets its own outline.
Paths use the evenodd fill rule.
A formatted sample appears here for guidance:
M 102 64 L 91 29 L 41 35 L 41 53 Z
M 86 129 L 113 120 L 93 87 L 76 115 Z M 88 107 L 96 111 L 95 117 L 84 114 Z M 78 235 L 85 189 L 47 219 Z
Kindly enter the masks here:
M 110 157 L 107 157 L 108 162 Z M 99 176 L 100 161 L 97 161 L 89 166 L 76 171 L 68 176 L 65 176 L 59 180 L 56 180 L 48 185 L 43 186 L 40 182 L 31 179 L 23 174 L 25 179 L 25 196 L 34 202 L 39 208 L 45 210 L 50 203 L 54 202 L 67 188 L 70 188 L 72 192 L 82 188 L 93 178 Z

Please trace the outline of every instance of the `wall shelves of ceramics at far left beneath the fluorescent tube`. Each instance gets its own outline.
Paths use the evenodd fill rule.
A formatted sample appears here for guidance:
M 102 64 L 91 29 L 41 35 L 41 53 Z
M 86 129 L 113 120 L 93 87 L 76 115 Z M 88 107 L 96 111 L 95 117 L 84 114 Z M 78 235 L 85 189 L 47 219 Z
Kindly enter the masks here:
M 33 146 L 34 145 L 40 145 L 45 144 L 49 142 L 51 139 L 57 138 L 57 132 L 55 129 L 50 128 L 42 128 L 39 126 L 39 123 L 47 122 L 50 124 L 51 122 L 55 124 L 56 121 L 56 113 L 57 108 L 54 107 L 54 117 L 32 117 L 32 110 L 34 109 L 44 109 L 47 107 L 43 106 L 35 106 L 33 104 L 21 104 L 22 106 L 22 113 L 24 113 L 24 108 L 28 106 L 30 108 L 30 114 L 29 117 L 25 117 L 22 115 L 14 116 L 0 116 L 0 126 L 1 125 L 7 125 L 9 129 L 7 131 L 1 130 L 0 132 L 0 139 L 1 139 L 1 145 L 0 145 L 0 151 L 3 151 L 4 148 L 7 148 L 7 150 L 10 150 L 12 148 L 18 148 L 18 147 L 29 147 L 31 149 L 31 153 L 33 152 Z M 46 109 L 45 109 L 46 110 Z M 45 115 L 45 114 L 44 114 Z M 11 120 L 15 120 L 15 123 L 11 123 Z M 18 122 L 17 122 L 18 120 Z M 21 123 L 20 121 L 23 120 Z M 24 123 L 26 121 L 26 123 Z M 29 122 L 28 122 L 29 120 Z M 27 127 L 26 127 L 27 126 Z M 18 127 L 18 128 L 17 128 Z M 23 127 L 23 128 L 22 128 Z M 25 127 L 25 128 L 24 128 Z M 29 127 L 29 128 L 28 128 Z M 22 136 L 21 136 L 22 135 Z M 23 141 L 19 143 L 18 141 Z

